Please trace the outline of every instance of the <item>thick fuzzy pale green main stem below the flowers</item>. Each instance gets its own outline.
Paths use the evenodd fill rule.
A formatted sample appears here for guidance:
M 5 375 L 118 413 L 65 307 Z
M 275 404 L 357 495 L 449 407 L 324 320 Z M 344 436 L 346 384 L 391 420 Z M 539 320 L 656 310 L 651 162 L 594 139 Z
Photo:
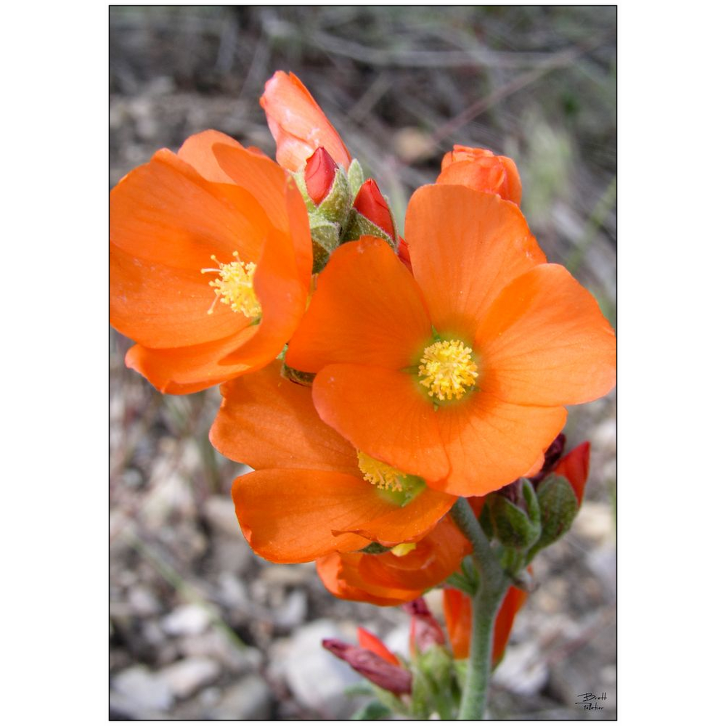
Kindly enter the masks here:
M 460 721 L 478 721 L 484 719 L 486 696 L 489 690 L 494 619 L 509 582 L 466 499 L 460 497 L 454 504 L 452 518 L 470 540 L 473 547 L 473 559 L 479 571 L 478 589 L 471 602 L 473 617 L 469 666 L 458 717 Z

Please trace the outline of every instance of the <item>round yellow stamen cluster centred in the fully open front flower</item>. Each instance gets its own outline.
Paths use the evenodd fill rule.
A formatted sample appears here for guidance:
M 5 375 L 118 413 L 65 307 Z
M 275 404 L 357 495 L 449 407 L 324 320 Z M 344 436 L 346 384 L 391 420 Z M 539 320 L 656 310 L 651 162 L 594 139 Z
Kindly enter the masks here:
M 479 375 L 471 352 L 461 340 L 437 340 L 424 349 L 418 375 L 429 396 L 451 401 L 470 391 Z

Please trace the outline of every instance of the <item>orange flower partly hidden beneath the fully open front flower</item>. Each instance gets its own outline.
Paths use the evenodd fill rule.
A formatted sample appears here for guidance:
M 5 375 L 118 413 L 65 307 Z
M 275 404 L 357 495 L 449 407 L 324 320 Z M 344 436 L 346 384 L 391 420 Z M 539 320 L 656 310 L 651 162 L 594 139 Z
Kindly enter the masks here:
M 221 391 L 210 439 L 256 469 L 234 481 L 232 498 L 250 546 L 268 560 L 306 562 L 370 540 L 412 542 L 454 503 L 356 452 L 320 420 L 310 389 L 280 376 L 279 362 Z

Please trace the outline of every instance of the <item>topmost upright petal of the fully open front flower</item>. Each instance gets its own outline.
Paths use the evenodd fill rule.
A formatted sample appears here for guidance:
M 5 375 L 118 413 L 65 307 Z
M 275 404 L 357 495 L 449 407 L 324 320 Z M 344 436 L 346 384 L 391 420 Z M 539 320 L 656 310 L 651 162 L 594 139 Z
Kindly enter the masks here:
M 502 288 L 545 261 L 516 205 L 467 187 L 417 189 L 406 240 L 434 327 L 469 340 Z

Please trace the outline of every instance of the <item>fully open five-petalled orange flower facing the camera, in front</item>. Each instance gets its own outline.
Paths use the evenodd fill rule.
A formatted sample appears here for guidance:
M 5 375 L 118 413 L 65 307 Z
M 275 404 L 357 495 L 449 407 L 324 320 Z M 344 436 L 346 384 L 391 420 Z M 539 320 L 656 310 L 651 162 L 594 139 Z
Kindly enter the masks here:
M 544 254 L 519 209 L 434 185 L 406 219 L 412 271 L 383 240 L 335 250 L 286 362 L 356 449 L 465 497 L 542 467 L 566 404 L 615 383 L 595 299 Z

